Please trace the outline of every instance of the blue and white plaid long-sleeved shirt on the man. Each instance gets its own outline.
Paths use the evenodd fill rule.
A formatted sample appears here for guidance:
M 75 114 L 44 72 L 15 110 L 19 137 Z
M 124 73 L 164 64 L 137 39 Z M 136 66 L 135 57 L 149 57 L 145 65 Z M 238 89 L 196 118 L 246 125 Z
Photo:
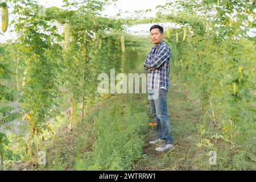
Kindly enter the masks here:
M 170 59 L 171 49 L 164 40 L 151 48 L 144 62 L 144 68 L 149 72 L 148 89 L 169 89 Z

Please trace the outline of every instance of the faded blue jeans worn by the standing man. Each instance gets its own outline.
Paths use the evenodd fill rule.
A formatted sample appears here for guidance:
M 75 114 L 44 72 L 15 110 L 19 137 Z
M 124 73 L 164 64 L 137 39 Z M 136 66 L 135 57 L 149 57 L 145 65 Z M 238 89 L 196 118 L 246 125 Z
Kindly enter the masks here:
M 150 108 L 156 121 L 156 134 L 159 139 L 172 144 L 171 125 L 167 113 L 167 90 L 159 89 L 155 92 L 159 92 L 158 97 L 154 100 L 150 100 Z

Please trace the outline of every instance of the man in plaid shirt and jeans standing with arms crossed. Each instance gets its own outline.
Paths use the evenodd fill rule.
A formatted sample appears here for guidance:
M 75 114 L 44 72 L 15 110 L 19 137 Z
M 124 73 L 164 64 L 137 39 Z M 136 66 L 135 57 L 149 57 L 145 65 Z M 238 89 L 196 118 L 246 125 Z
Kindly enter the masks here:
M 164 42 L 163 27 L 154 25 L 150 28 L 152 43 L 155 44 L 148 53 L 144 62 L 144 68 L 148 74 L 148 89 L 158 93 L 158 97 L 150 99 L 152 115 L 156 121 L 156 137 L 150 141 L 150 144 L 162 143 L 160 147 L 155 148 L 158 152 L 164 152 L 174 148 L 171 135 L 170 119 L 167 113 L 167 92 L 169 89 L 169 73 L 171 49 Z

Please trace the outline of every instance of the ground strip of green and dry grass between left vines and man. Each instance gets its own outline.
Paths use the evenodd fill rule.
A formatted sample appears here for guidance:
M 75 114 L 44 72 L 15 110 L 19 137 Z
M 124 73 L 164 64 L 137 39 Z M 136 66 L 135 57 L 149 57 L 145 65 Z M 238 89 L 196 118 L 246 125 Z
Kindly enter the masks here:
M 114 97 L 91 110 L 73 131 L 60 133 L 48 150 L 46 169 L 131 169 L 143 150 L 148 117 L 144 103 L 133 96 Z

